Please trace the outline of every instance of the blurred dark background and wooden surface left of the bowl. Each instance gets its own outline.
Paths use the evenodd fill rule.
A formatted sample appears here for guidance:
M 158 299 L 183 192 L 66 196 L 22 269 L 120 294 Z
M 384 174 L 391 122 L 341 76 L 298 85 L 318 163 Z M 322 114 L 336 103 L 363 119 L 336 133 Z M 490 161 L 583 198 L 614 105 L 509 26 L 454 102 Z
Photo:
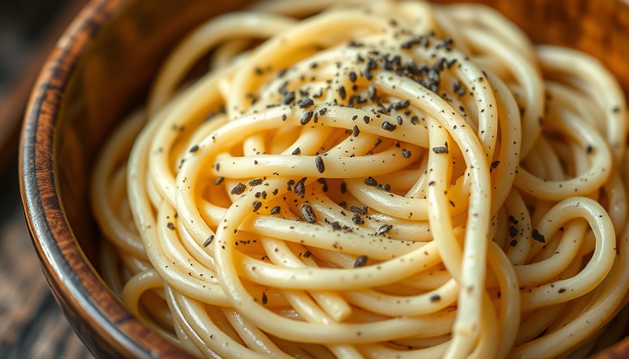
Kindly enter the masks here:
M 41 272 L 18 185 L 20 125 L 55 41 L 87 0 L 0 0 L 0 358 L 91 358 Z

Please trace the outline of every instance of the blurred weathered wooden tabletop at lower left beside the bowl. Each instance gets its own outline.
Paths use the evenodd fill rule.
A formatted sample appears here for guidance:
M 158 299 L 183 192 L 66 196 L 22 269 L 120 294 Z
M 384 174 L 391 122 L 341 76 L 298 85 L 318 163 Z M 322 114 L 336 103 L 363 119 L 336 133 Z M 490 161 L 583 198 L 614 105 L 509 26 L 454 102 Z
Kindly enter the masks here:
M 92 358 L 55 302 L 22 214 L 15 158 L 1 176 L 0 358 Z

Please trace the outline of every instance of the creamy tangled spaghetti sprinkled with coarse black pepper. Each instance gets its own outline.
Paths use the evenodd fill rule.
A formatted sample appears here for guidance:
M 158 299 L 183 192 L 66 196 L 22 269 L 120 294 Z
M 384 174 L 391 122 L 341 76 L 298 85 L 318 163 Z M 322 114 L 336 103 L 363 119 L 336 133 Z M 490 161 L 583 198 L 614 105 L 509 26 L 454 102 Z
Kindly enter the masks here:
M 483 6 L 334 4 L 222 15 L 173 50 L 96 165 L 112 290 L 211 358 L 580 358 L 619 339 L 613 77 Z

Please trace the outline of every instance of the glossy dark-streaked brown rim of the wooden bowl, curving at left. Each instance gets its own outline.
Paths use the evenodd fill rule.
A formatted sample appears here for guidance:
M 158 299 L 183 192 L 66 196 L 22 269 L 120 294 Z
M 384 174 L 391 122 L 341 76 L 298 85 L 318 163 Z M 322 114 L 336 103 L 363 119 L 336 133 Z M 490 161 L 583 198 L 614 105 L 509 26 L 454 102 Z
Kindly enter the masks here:
M 98 30 L 131 0 L 91 0 L 55 44 L 32 90 L 20 135 L 22 205 L 41 269 L 62 311 L 95 357 L 183 358 L 107 288 L 69 225 L 55 171 L 55 128 L 72 70 Z

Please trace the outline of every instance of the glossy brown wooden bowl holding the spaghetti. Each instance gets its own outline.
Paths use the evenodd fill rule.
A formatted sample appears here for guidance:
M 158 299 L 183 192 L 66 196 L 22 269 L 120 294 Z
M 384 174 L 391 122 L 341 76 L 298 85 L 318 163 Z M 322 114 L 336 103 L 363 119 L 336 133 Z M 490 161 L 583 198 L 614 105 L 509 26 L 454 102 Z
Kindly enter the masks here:
M 58 41 L 34 87 L 20 149 L 24 210 L 53 293 L 96 357 L 187 356 L 132 316 L 95 270 L 100 237 L 89 177 L 103 140 L 145 99 L 168 49 L 202 20 L 249 2 L 94 0 Z M 629 93 L 627 2 L 478 2 L 505 13 L 534 41 L 599 57 Z M 628 358 L 629 339 L 601 356 Z

